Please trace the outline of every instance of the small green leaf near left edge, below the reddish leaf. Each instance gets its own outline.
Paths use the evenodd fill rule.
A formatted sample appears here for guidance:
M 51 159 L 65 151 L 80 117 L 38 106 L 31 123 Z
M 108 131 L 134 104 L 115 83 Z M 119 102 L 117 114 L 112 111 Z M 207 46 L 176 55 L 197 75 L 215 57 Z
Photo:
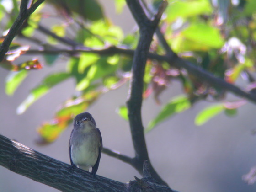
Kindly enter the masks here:
M 10 72 L 6 79 L 5 93 L 9 96 L 13 95 L 17 87 L 27 77 L 28 71 L 21 70 L 18 72 Z

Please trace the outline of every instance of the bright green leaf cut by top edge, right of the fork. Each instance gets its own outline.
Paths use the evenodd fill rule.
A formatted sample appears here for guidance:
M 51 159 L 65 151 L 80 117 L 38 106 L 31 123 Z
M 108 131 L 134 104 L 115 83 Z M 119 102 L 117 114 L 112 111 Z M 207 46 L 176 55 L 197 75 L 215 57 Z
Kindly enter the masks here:
M 212 12 L 208 0 L 170 0 L 166 8 L 167 20 L 174 21 L 178 17 L 187 18 Z

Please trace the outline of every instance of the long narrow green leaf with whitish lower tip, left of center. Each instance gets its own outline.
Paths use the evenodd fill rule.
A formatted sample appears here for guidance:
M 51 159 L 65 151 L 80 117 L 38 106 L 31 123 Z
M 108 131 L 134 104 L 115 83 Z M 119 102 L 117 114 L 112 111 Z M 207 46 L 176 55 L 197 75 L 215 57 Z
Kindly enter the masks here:
M 43 83 L 36 88 L 34 88 L 29 96 L 21 103 L 21 105 L 17 108 L 17 114 L 21 114 L 27 110 L 27 108 L 37 101 L 40 97 L 45 95 L 54 85 L 59 84 L 60 82 L 66 80 L 70 77 L 68 73 L 56 73 L 48 75 L 44 80 Z

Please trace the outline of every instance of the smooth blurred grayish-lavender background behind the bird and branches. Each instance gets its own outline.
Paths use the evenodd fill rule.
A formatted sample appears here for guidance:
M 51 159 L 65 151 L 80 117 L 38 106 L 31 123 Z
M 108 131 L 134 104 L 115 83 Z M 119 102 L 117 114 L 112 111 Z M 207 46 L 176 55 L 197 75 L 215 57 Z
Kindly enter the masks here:
M 116 25 L 127 33 L 133 30 L 135 23 L 127 7 L 124 7 L 121 15 L 116 16 L 113 1 L 101 0 L 101 3 L 106 10 L 105 14 Z M 52 144 L 38 146 L 35 140 L 38 138 L 37 127 L 43 121 L 52 119 L 60 104 L 75 93 L 75 80 L 57 85 L 26 112 L 16 114 L 17 107 L 29 91 L 49 72 L 64 71 L 65 62 L 65 57 L 60 57 L 54 66 L 44 65 L 43 69 L 33 71 L 11 97 L 5 94 L 8 71 L 0 68 L 0 134 L 69 164 L 71 126 Z M 180 83 L 174 81 L 160 96 L 160 100 L 165 103 L 181 93 Z M 127 95 L 128 83 L 101 96 L 87 111 L 93 115 L 101 130 L 103 145 L 133 157 L 128 122 L 115 112 L 117 107 L 125 105 Z M 229 94 L 228 98 L 234 99 L 235 96 Z M 200 101 L 191 109 L 175 115 L 147 133 L 146 143 L 151 163 L 163 180 L 180 192 L 256 191 L 256 184 L 248 185 L 242 181 L 242 176 L 256 165 L 256 136 L 252 135 L 256 124 L 255 105 L 248 103 L 240 107 L 235 117 L 227 117 L 221 113 L 208 123 L 196 126 L 194 119 L 197 113 L 210 104 Z M 144 100 L 144 125 L 158 114 L 160 108 L 152 96 Z M 101 156 L 97 174 L 121 182 L 129 182 L 134 179 L 133 176 L 141 178 L 133 167 L 105 154 Z M 57 190 L 0 167 L 0 192 L 17 191 Z

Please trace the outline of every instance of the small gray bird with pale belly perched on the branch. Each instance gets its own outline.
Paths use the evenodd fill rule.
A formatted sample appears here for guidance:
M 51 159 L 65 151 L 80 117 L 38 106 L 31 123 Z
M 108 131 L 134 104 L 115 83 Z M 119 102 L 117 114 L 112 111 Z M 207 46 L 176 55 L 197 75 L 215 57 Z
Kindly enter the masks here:
M 100 129 L 89 112 L 80 113 L 74 119 L 74 128 L 69 139 L 69 158 L 71 167 L 79 166 L 80 169 L 96 174 L 102 150 Z

